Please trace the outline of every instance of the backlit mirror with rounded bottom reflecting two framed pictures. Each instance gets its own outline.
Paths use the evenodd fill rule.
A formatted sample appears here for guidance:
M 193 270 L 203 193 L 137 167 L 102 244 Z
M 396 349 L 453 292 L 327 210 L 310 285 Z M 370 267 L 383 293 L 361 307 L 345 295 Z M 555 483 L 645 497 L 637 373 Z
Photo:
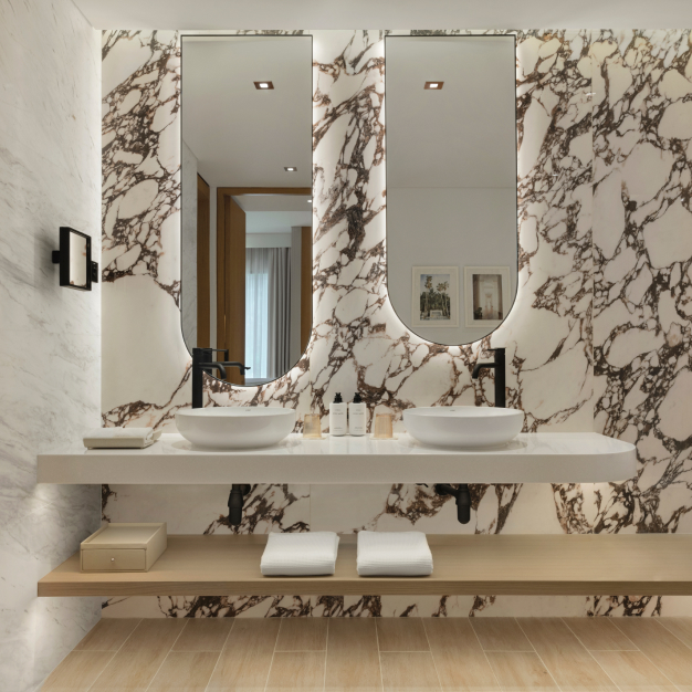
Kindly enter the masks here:
M 516 294 L 514 36 L 388 36 L 387 285 L 421 337 L 469 344 Z

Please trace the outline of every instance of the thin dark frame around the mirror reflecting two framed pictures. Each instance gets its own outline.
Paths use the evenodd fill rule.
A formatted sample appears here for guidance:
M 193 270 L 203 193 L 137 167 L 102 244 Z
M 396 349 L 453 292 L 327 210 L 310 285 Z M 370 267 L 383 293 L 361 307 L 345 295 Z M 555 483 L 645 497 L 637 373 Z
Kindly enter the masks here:
M 516 33 L 505 33 L 505 34 L 444 34 L 444 35 L 437 35 L 437 34 L 426 34 L 426 33 L 418 33 L 418 34 L 394 34 L 394 35 L 387 35 L 385 36 L 385 126 L 387 125 L 387 41 L 390 40 L 397 40 L 397 39 L 430 39 L 430 38 L 434 38 L 434 39 L 450 39 L 450 40 L 463 40 L 463 39 L 483 39 L 483 40 L 490 40 L 492 41 L 493 39 L 506 39 L 506 38 L 512 38 L 514 41 L 514 69 L 515 69 L 515 75 L 516 75 Z M 428 338 L 426 338 L 424 336 L 421 336 L 418 332 L 416 332 L 416 328 L 412 327 L 411 325 L 409 325 L 405 319 L 401 318 L 401 315 L 399 315 L 399 313 L 397 312 L 397 308 L 394 304 L 394 302 L 391 301 L 391 294 L 389 293 L 389 253 L 386 252 L 386 262 L 387 262 L 387 271 L 385 273 L 385 281 L 386 281 L 386 285 L 387 285 L 387 294 L 389 296 L 389 304 L 391 305 L 391 310 L 394 310 L 395 314 L 397 315 L 397 317 L 399 318 L 399 321 L 401 322 L 401 324 L 411 333 L 411 334 L 416 334 L 416 336 L 418 336 L 419 338 L 423 339 L 424 342 L 427 342 L 428 344 L 436 344 L 438 346 L 443 346 L 445 348 L 454 348 L 454 347 L 462 347 L 462 346 L 470 346 L 471 344 L 475 344 L 478 342 L 483 340 L 484 338 L 487 338 L 489 336 L 491 336 L 494 332 L 496 332 L 503 324 L 504 322 L 507 319 L 507 317 L 510 316 L 510 313 L 512 312 L 512 310 L 514 308 L 514 305 L 516 303 L 516 296 L 518 294 L 518 274 L 520 274 L 520 243 L 518 243 L 518 232 L 520 232 L 520 219 L 518 219 L 518 128 L 517 128 L 517 123 L 518 123 L 518 108 L 517 108 L 517 96 L 516 96 L 516 76 L 515 76 L 515 91 L 514 91 L 514 144 L 515 144 L 515 156 L 514 156 L 514 167 L 515 167 L 515 180 L 516 180 L 516 195 L 515 195 L 515 233 L 514 233 L 514 242 L 516 245 L 516 287 L 514 290 L 514 295 L 512 296 L 511 303 L 510 303 L 510 307 L 505 313 L 504 318 L 502 319 L 502 322 L 496 326 L 493 327 L 490 332 L 487 332 L 486 334 L 483 334 L 482 336 L 479 336 L 479 338 L 473 339 L 472 342 L 464 342 L 462 344 L 441 344 L 439 342 L 433 342 L 430 340 Z M 387 186 L 387 181 L 389 180 L 389 176 L 388 176 L 388 166 L 389 166 L 389 156 L 387 155 L 387 136 L 385 135 L 385 190 L 388 189 Z M 389 247 L 389 214 L 385 213 L 385 247 Z M 460 272 L 459 272 L 460 279 L 459 281 L 462 282 L 463 281 L 463 268 L 460 268 Z

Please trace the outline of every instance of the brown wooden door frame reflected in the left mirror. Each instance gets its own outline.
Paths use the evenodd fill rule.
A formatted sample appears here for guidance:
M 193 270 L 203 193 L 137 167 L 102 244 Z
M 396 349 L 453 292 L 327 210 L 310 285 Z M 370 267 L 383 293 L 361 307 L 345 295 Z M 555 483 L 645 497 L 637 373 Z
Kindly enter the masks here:
M 217 348 L 228 348 L 229 360 L 245 361 L 245 212 L 233 201 L 233 197 L 242 195 L 311 197 L 312 193 L 311 188 L 217 188 Z M 303 249 L 303 265 L 306 254 Z M 312 285 L 312 242 L 310 259 L 308 266 L 303 266 L 302 270 L 303 286 L 306 273 L 310 276 L 308 285 Z M 304 308 L 305 302 L 301 301 L 301 305 Z M 312 291 L 308 305 L 312 329 Z M 302 325 L 306 324 L 304 315 L 301 322 Z M 227 375 L 227 381 L 232 385 L 245 384 L 245 375 L 238 368 L 229 368 Z

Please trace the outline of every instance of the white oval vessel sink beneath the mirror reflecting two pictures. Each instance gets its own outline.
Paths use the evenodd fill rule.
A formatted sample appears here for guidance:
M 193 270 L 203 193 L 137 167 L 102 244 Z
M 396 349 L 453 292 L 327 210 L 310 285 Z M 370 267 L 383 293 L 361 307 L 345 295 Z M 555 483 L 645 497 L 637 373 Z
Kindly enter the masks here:
M 523 411 L 475 406 L 439 406 L 403 411 L 403 424 L 424 444 L 451 449 L 495 447 L 513 440 Z

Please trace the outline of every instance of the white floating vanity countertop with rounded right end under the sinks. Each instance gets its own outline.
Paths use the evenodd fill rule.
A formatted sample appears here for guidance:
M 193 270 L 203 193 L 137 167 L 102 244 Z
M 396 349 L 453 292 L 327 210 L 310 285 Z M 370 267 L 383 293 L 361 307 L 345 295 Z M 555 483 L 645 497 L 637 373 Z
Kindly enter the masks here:
M 72 448 L 39 454 L 39 483 L 601 483 L 631 479 L 637 452 L 629 442 L 596 432 L 521 433 L 482 450 L 424 447 L 406 433 L 396 440 L 291 434 L 255 450 L 193 449 L 180 434 L 162 434 L 146 449 Z

